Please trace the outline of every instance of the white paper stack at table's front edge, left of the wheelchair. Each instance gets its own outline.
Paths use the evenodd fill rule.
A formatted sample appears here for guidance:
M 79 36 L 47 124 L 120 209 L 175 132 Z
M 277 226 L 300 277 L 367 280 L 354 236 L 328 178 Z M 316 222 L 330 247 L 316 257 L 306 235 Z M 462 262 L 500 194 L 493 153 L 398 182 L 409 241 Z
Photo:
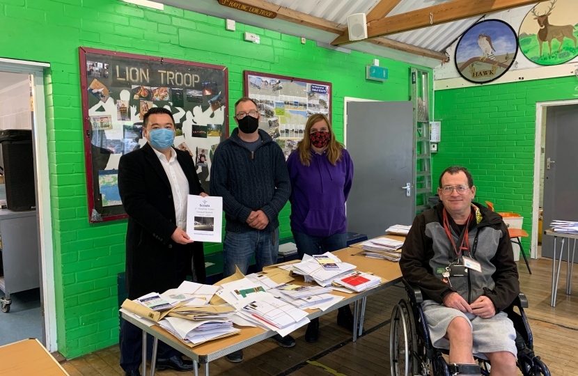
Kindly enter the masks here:
M 259 327 L 274 330 L 286 336 L 309 322 L 307 313 L 286 301 L 267 293 L 265 299 L 249 301 L 242 306 L 240 314 Z

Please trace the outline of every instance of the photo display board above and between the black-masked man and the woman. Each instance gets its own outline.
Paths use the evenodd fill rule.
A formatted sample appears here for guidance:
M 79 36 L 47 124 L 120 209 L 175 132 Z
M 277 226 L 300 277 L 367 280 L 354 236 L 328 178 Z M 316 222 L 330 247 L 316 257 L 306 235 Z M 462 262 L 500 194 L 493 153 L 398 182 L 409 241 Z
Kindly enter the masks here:
M 331 120 L 331 83 L 244 71 L 244 95 L 257 104 L 259 128 L 268 132 L 288 159 L 303 139 L 307 118 L 323 113 Z

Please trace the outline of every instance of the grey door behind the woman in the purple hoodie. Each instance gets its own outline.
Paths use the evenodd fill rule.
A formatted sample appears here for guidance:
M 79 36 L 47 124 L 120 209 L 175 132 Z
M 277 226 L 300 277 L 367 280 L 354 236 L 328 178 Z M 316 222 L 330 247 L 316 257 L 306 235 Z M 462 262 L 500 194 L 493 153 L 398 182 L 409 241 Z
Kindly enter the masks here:
M 347 151 L 354 165 L 347 231 L 384 235 L 415 216 L 412 102 L 348 102 Z

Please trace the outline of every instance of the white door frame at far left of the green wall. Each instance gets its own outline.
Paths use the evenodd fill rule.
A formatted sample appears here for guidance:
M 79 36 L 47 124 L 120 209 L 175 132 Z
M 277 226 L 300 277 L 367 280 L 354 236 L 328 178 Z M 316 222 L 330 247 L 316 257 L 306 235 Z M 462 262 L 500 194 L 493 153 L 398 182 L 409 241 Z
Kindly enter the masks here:
M 0 58 L 3 72 L 23 73 L 33 80 L 33 132 L 38 186 L 38 216 L 40 218 L 40 272 L 44 301 L 45 343 L 49 352 L 58 350 L 56 344 L 56 297 L 54 289 L 54 246 L 52 237 L 52 210 L 50 206 L 50 176 L 48 167 L 48 132 L 44 77 L 49 63 Z

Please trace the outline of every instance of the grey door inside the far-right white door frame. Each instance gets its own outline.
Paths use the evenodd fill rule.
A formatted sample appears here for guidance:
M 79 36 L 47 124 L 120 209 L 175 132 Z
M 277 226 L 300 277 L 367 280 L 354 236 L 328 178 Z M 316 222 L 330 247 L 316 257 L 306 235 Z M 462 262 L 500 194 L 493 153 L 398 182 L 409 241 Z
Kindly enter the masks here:
M 553 219 L 578 221 L 578 105 L 548 107 L 544 169 L 544 228 Z M 548 166 L 548 159 L 550 160 Z M 568 243 L 568 242 L 566 242 Z M 573 246 L 574 242 L 570 244 Z M 567 244 L 564 244 L 566 249 Z M 554 240 L 542 236 L 542 256 L 552 258 Z M 560 247 L 560 242 L 558 242 Z M 559 250 L 560 248 L 558 248 Z M 563 260 L 568 253 L 564 252 Z M 575 259 L 578 263 L 578 259 Z

